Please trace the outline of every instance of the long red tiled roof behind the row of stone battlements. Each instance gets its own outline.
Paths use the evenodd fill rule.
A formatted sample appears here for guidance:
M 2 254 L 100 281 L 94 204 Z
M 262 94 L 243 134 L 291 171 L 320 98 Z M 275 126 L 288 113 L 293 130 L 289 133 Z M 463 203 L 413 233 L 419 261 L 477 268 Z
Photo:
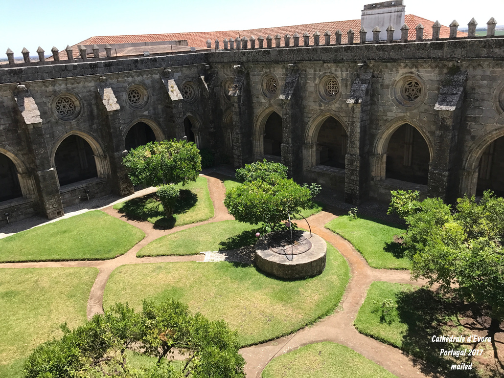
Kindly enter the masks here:
M 432 38 L 432 25 L 433 21 L 426 20 L 424 18 L 415 15 L 406 15 L 405 24 L 409 27 L 408 39 L 415 40 L 416 30 L 415 27 L 421 23 L 424 27 L 423 37 L 424 39 Z M 348 41 L 347 32 L 352 29 L 355 33 L 354 42 L 357 43 L 359 40 L 360 31 L 360 20 L 348 20 L 348 21 L 332 21 L 332 22 L 321 22 L 317 24 L 303 24 L 303 25 L 293 25 L 293 26 L 279 26 L 273 28 L 261 28 L 261 29 L 246 29 L 246 30 L 225 30 L 225 31 L 211 31 L 211 32 L 193 32 L 193 33 L 166 33 L 166 34 L 134 34 L 134 35 L 105 35 L 105 36 L 95 36 L 88 38 L 82 42 L 76 43 L 72 46 L 74 50 L 74 56 L 79 56 L 78 45 L 93 45 L 93 44 L 119 44 L 119 43 L 137 43 L 137 42 L 162 42 L 162 41 L 176 41 L 176 40 L 187 40 L 187 44 L 193 47 L 206 48 L 207 40 L 212 41 L 212 46 L 215 44 L 215 40 L 218 39 L 220 42 L 220 47 L 223 48 L 224 38 L 236 39 L 236 37 L 246 36 L 250 39 L 251 36 L 258 38 L 262 35 L 265 39 L 268 35 L 275 38 L 279 34 L 281 38 L 281 46 L 284 46 L 284 36 L 289 34 L 291 37 L 297 33 L 299 35 L 299 44 L 303 43 L 303 34 L 307 32 L 310 35 L 310 44 L 313 44 L 313 33 L 318 31 L 320 33 L 320 44 L 325 43 L 324 32 L 329 30 L 331 33 L 331 43 L 335 42 L 334 32 L 340 30 L 342 32 L 341 43 L 345 44 Z M 367 31 L 371 33 L 371 30 Z M 450 28 L 447 26 L 442 26 L 440 30 L 440 38 L 448 38 L 450 35 Z M 458 37 L 465 37 L 467 33 L 458 32 Z M 291 40 L 291 45 L 292 45 Z M 275 46 L 275 41 L 272 42 Z M 266 47 L 266 41 L 264 42 Z M 257 44 L 256 44 L 257 47 Z M 65 51 L 60 51 L 61 59 L 66 59 Z

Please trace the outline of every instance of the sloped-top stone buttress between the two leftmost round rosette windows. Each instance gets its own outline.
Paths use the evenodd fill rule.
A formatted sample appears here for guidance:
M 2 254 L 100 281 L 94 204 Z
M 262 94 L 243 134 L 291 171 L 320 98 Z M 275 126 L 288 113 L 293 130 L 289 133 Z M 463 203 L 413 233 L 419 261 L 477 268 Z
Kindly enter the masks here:
M 127 155 L 124 145 L 124 136 L 122 134 L 122 123 L 119 113 L 120 106 L 117 103 L 114 92 L 110 85 L 105 82 L 105 78 L 101 77 L 100 82 L 96 84 L 96 89 L 100 98 L 101 104 L 101 128 L 104 135 L 104 140 L 108 140 L 107 155 L 110 169 L 110 184 L 112 191 L 119 196 L 128 196 L 135 193 L 133 184 L 128 177 L 128 170 L 122 165 L 122 159 Z M 106 165 L 106 157 L 98 159 L 100 165 Z

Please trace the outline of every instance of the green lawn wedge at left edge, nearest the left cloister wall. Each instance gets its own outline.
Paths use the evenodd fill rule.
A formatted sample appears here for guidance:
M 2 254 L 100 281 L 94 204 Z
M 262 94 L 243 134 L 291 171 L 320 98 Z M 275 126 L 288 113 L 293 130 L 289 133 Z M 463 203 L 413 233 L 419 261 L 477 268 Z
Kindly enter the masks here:
M 0 262 L 107 260 L 145 233 L 102 211 L 89 211 L 0 239 Z

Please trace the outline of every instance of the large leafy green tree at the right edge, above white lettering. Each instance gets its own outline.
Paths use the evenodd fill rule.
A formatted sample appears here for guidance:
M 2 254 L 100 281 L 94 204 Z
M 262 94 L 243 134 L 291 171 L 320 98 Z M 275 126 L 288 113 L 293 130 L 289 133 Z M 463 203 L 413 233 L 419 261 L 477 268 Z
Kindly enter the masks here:
M 405 197 L 396 196 L 391 208 L 408 225 L 404 244 L 412 276 L 488 305 L 490 330 L 498 330 L 504 320 L 504 199 L 485 192 L 479 203 L 474 196 L 459 199 L 452 211 L 438 198 L 419 202 L 411 196 L 408 204 Z

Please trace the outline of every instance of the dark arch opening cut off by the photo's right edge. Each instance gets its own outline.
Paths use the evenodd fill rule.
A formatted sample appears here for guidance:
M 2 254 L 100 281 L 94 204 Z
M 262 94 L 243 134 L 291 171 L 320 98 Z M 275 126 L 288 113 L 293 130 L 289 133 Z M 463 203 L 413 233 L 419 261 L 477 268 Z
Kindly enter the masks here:
M 478 184 L 476 194 L 482 195 L 492 190 L 497 196 L 504 197 L 504 137 L 493 141 L 483 152 L 479 160 Z

